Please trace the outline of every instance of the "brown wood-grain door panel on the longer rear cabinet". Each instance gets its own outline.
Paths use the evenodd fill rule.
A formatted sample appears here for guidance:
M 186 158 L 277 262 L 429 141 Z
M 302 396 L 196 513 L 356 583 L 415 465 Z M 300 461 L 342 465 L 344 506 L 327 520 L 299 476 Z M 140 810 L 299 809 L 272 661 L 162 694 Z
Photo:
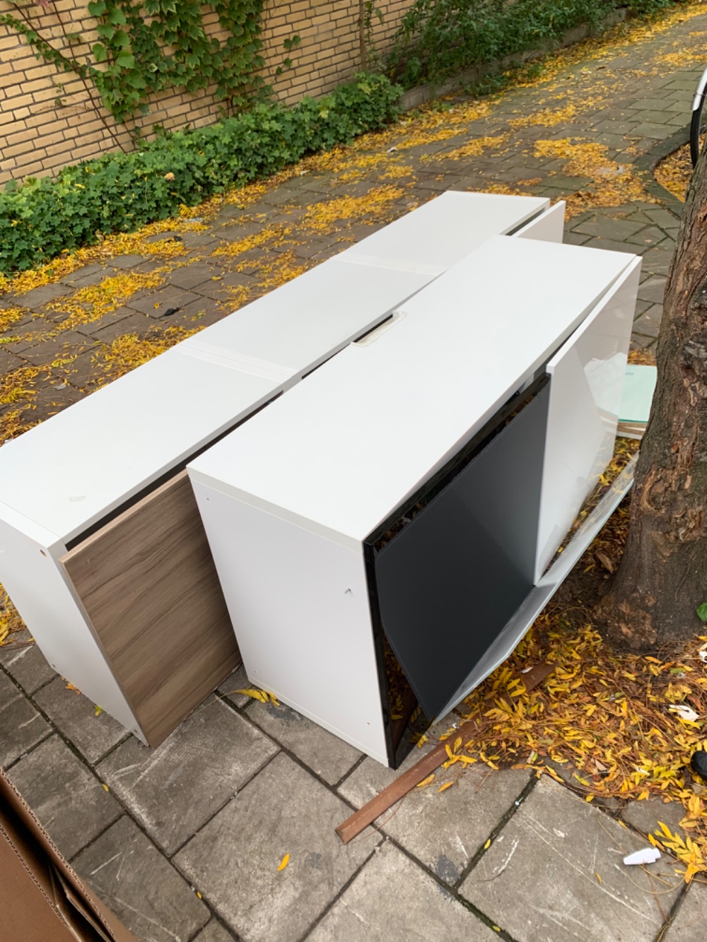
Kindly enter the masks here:
M 240 663 L 187 472 L 60 561 L 156 745 Z

